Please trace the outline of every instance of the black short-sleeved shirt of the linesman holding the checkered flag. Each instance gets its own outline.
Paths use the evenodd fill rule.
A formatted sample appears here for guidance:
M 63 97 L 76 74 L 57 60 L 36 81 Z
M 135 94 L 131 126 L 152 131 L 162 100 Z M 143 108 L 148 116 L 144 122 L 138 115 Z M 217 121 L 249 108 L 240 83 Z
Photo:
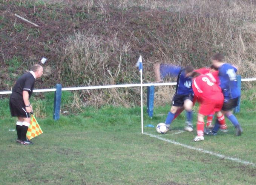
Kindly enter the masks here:
M 18 78 L 16 84 L 12 89 L 12 98 L 20 99 L 22 97 L 23 90 L 28 91 L 29 98 L 31 97 L 34 89 L 35 78 L 31 74 L 31 72 L 27 72 L 23 74 L 20 78 Z

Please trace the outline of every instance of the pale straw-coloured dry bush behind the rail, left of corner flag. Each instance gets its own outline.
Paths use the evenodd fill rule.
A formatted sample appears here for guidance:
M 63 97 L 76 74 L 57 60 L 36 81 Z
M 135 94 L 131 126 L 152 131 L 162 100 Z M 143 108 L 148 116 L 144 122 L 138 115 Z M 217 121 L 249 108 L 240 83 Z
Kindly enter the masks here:
M 104 43 L 106 44 L 106 43 Z M 127 53 L 130 43 L 121 43 L 113 38 L 106 45 L 95 35 L 75 33 L 67 39 L 66 60 L 69 62 L 68 78 L 80 86 L 112 85 L 120 82 L 129 83 L 137 75 L 128 69 Z M 110 57 L 110 53 L 115 53 Z M 112 60 L 112 62 L 109 62 Z M 139 92 L 139 91 L 138 91 Z M 81 94 L 86 105 L 100 107 L 103 104 L 123 105 L 136 104 L 131 89 L 88 90 Z

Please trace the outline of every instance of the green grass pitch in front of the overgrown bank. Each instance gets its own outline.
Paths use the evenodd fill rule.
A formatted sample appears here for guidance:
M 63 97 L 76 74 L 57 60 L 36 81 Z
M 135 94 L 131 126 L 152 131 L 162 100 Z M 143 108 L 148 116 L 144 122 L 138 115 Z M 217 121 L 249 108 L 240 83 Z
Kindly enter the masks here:
M 169 108 L 156 107 L 152 119 L 145 113 L 144 126 L 163 122 Z M 244 129 L 241 137 L 235 137 L 235 128 L 226 120 L 228 133 L 193 142 L 196 131 L 176 134 L 184 127 L 184 114 L 167 134 L 151 127 L 144 127 L 144 132 L 256 164 L 255 115 L 245 108 L 236 114 Z M 44 133 L 32 139 L 35 144 L 30 146 L 16 144 L 16 132 L 8 131 L 14 129 L 15 119 L 3 118 L 0 123 L 0 184 L 255 184 L 254 165 L 141 134 L 139 107 L 87 108 L 57 122 L 52 117 L 38 118 Z

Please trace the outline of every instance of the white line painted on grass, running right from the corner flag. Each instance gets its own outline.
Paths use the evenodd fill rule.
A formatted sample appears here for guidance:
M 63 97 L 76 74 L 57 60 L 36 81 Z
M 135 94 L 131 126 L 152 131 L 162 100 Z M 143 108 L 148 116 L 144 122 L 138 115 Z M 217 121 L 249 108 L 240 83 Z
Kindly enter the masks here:
M 245 165 L 255 166 L 255 164 L 253 162 L 243 161 L 243 160 L 238 159 L 238 158 L 233 158 L 233 157 L 221 155 L 219 153 L 215 153 L 215 152 L 211 152 L 211 151 L 208 151 L 208 150 L 204 150 L 204 149 L 201 149 L 201 148 L 196 148 L 196 147 L 189 146 L 189 145 L 186 145 L 186 144 L 178 143 L 176 141 L 172 141 L 172 140 L 169 140 L 169 139 L 161 138 L 158 135 L 153 135 L 153 134 L 148 134 L 148 133 L 143 133 L 143 134 L 149 135 L 150 137 L 155 137 L 155 138 L 157 138 L 159 140 L 166 141 L 168 143 L 172 143 L 172 144 L 175 144 L 175 145 L 183 146 L 183 147 L 188 148 L 188 149 L 196 150 L 196 151 L 203 152 L 203 153 L 208 153 L 210 155 L 215 155 L 215 156 L 217 156 L 219 158 L 228 159 L 228 160 L 239 162 L 239 163 L 242 163 L 242 164 L 245 164 Z

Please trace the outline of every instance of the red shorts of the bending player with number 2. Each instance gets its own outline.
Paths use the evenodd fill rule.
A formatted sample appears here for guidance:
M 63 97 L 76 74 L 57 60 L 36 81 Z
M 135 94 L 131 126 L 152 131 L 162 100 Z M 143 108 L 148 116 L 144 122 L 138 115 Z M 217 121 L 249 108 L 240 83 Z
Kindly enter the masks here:
M 199 114 L 203 114 L 204 116 L 214 114 L 215 112 L 218 112 L 221 110 L 223 106 L 223 99 L 221 100 L 213 100 L 213 99 L 207 99 L 206 101 L 203 101 L 199 105 Z

